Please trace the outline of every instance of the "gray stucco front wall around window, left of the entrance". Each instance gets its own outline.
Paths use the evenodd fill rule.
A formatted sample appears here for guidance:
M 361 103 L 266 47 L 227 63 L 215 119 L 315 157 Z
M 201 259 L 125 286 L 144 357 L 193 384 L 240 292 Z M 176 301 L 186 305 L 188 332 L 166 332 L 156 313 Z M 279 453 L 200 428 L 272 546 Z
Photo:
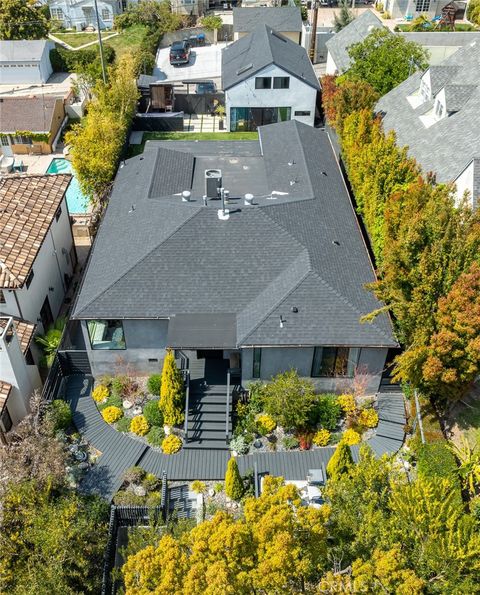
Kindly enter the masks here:
M 168 320 L 124 320 L 126 349 L 92 349 L 87 323 L 82 320 L 82 333 L 94 376 L 115 373 L 120 360 L 135 368 L 140 375 L 161 372 L 166 353 Z

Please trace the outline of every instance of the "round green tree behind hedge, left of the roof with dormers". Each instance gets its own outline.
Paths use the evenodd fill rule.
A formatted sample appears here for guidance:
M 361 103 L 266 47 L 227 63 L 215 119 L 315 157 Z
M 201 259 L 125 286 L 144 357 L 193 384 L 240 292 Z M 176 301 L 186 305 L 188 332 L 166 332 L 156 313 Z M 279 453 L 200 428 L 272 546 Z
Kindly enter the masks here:
M 416 70 L 428 66 L 428 52 L 414 41 L 377 28 L 348 48 L 352 64 L 347 77 L 369 83 L 380 95 L 403 82 Z

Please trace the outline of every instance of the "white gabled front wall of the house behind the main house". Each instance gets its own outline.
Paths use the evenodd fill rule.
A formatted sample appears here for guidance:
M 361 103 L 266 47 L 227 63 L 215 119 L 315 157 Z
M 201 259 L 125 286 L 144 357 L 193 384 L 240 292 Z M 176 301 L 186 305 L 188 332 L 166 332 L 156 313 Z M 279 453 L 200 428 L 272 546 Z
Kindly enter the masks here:
M 257 77 L 290 78 L 289 89 L 255 89 Z M 273 86 L 273 85 L 272 85 Z M 230 110 L 233 107 L 290 107 L 291 119 L 313 126 L 317 90 L 271 64 L 225 92 L 227 130 L 230 130 Z M 309 111 L 309 116 L 295 116 L 295 111 Z

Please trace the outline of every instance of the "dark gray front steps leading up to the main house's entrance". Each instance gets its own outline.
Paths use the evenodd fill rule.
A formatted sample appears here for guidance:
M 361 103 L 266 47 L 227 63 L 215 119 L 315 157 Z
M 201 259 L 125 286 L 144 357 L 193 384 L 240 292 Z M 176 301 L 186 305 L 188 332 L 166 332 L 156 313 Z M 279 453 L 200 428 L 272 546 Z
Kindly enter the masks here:
M 227 450 L 227 386 L 192 382 L 188 409 L 188 442 L 184 448 Z M 232 431 L 232 400 L 229 399 L 228 432 Z

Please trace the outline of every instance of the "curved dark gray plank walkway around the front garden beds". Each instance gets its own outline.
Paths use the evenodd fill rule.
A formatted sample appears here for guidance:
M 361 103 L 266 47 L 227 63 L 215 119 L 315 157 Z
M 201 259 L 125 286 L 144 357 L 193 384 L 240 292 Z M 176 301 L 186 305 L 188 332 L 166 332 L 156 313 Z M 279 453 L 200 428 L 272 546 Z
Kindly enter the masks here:
M 158 477 L 166 471 L 171 481 L 223 480 L 229 452 L 225 450 L 185 449 L 176 455 L 164 455 L 140 439 L 115 430 L 107 424 L 91 398 L 93 379 L 82 374 L 66 379 L 66 399 L 73 412 L 78 431 L 102 454 L 83 479 L 80 489 L 111 500 L 120 489 L 123 473 L 139 465 Z M 396 452 L 403 442 L 405 409 L 402 393 L 381 393 L 378 399 L 379 425 L 369 443 L 380 456 Z M 304 481 L 309 469 L 327 465 L 334 448 L 325 447 L 304 452 L 255 453 L 237 458 L 240 473 L 257 465 L 258 473 L 281 475 L 287 480 Z M 354 459 L 358 447 L 352 447 Z

